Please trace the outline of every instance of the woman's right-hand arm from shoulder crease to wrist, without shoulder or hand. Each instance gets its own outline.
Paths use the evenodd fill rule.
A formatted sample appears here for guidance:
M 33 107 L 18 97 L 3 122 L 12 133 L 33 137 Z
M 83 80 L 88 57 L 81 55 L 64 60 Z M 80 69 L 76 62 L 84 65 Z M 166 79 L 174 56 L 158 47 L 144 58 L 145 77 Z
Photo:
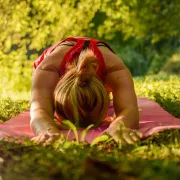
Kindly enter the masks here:
M 138 129 L 139 112 L 133 80 L 128 69 L 118 70 L 109 75 L 112 88 L 116 120 L 122 120 L 126 127 Z

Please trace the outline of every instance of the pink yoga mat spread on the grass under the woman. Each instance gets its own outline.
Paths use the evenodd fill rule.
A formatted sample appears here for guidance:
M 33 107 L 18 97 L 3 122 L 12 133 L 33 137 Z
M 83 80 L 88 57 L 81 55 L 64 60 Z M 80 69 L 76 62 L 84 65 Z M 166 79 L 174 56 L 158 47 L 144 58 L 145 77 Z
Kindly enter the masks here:
M 138 98 L 138 107 L 140 112 L 140 128 L 139 131 L 143 133 L 143 138 L 146 138 L 153 133 L 165 130 L 180 128 L 180 119 L 175 118 L 170 113 L 165 111 L 159 104 L 147 98 Z M 111 116 L 114 113 L 114 109 L 110 106 L 108 115 Z M 16 117 L 0 124 L 0 139 L 13 136 L 13 137 L 33 137 L 34 134 L 29 125 L 30 117 L 29 110 L 22 112 Z M 92 142 L 96 137 L 102 134 L 102 132 L 108 127 L 101 126 L 88 131 L 85 141 Z M 60 130 L 65 137 L 72 140 L 75 136 L 72 131 Z M 78 130 L 79 136 L 82 130 Z

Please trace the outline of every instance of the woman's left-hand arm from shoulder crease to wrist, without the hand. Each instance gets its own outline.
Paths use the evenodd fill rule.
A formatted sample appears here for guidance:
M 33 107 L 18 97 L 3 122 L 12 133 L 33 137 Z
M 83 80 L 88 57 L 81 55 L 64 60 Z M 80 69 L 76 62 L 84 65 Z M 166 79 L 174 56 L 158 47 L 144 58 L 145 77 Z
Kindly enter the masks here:
M 54 72 L 37 69 L 32 84 L 31 128 L 35 135 L 47 128 L 56 129 L 53 107 L 53 90 L 58 81 Z

